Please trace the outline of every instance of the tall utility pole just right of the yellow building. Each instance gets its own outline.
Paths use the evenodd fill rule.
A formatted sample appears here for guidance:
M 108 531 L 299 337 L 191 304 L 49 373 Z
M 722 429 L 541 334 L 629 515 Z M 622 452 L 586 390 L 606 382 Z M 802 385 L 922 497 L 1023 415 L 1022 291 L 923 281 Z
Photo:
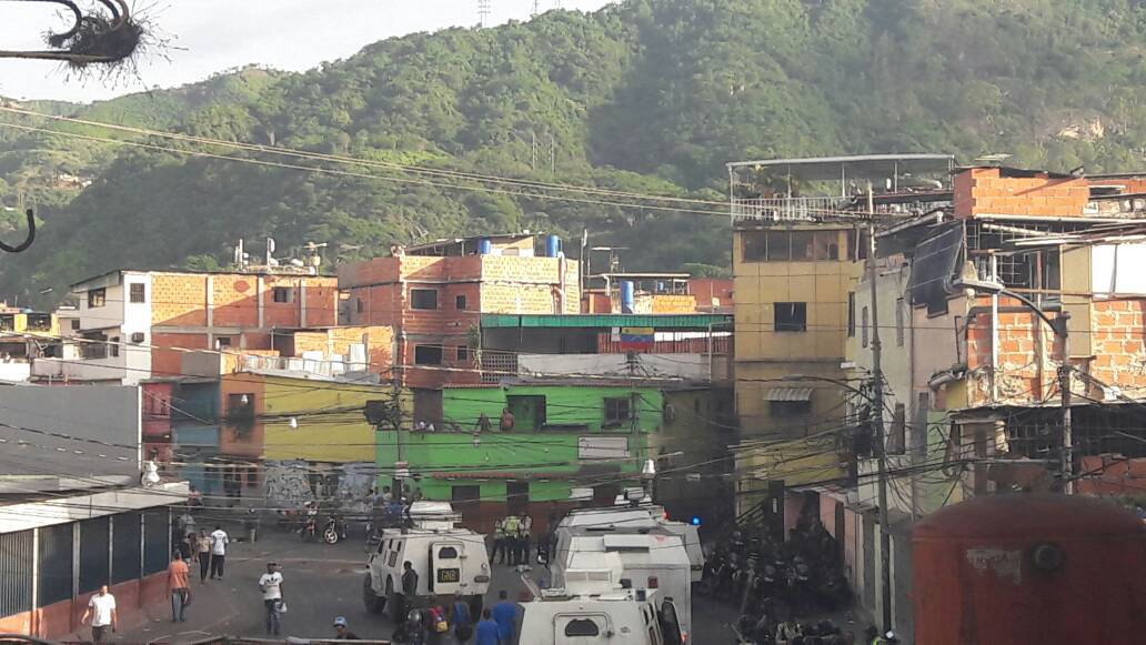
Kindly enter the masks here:
M 884 631 L 892 628 L 892 534 L 887 513 L 887 443 L 884 438 L 884 364 L 879 340 L 879 290 L 876 288 L 876 209 L 871 183 L 868 183 L 868 283 L 871 285 L 871 392 L 872 425 L 876 426 L 876 466 L 879 480 L 879 550 L 880 581 L 882 582 Z

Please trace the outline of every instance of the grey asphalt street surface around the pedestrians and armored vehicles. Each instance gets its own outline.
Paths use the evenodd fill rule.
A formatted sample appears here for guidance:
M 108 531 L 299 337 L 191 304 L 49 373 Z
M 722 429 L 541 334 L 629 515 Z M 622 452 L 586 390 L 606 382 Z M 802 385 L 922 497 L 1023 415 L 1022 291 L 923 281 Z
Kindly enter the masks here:
M 351 538 L 337 545 L 301 543 L 297 537 L 270 533 L 254 544 L 233 543 L 227 553 L 227 575 L 222 581 L 194 584 L 195 598 L 187 609 L 187 622 L 172 623 L 170 609 L 152 612 L 142 626 L 124 626 L 115 635 L 118 643 L 191 643 L 210 636 L 262 637 L 264 609 L 258 579 L 267 561 L 277 561 L 283 574 L 283 590 L 289 611 L 282 616 L 282 637 L 331 638 L 331 622 L 344 616 L 350 629 L 362 638 L 386 639 L 394 627 L 385 616 L 366 612 L 362 581 L 366 576 L 366 544 Z M 496 603 L 499 590 L 516 598 L 523 585 L 519 574 L 507 566 L 494 567 L 494 580 L 486 606 Z M 534 577 L 544 573 L 534 572 Z M 693 599 L 693 643 L 722 645 L 735 643 L 728 623 L 736 613 L 728 606 L 705 598 Z

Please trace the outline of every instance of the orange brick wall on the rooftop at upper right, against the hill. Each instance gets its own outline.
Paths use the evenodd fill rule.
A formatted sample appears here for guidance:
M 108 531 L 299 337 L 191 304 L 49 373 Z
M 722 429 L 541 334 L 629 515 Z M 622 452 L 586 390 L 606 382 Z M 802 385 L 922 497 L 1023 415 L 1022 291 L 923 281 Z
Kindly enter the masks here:
M 1082 217 L 1090 200 L 1084 178 L 1005 178 L 999 168 L 971 168 L 955 176 L 955 217 L 978 214 Z

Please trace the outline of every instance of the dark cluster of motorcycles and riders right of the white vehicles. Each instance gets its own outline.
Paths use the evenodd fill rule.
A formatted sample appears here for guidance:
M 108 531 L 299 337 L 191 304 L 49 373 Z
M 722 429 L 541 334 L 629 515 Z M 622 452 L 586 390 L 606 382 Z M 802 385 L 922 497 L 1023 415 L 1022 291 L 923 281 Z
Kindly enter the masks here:
M 772 632 L 783 620 L 835 612 L 850 601 L 839 544 L 819 524 L 793 529 L 783 543 L 745 533 L 717 543 L 700 583 L 701 592 L 735 604 L 743 624 Z

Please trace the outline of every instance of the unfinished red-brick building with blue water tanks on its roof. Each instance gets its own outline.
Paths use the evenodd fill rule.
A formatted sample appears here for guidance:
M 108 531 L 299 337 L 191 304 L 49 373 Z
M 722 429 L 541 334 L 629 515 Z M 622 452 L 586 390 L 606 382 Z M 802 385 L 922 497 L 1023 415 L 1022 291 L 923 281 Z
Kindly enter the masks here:
M 440 239 L 395 247 L 388 258 L 343 265 L 347 324 L 394 329 L 395 373 L 415 391 L 415 416 L 440 416 L 440 388 L 480 383 L 481 314 L 576 314 L 580 263 L 550 237 Z

